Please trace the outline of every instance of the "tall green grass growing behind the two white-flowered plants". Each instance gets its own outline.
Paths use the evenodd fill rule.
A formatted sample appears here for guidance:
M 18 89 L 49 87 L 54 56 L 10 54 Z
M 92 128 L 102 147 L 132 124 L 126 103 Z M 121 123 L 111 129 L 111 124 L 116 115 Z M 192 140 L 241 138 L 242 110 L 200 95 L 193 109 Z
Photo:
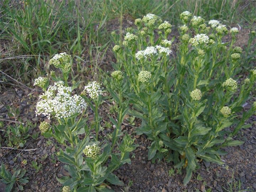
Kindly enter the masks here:
M 110 32 L 148 13 L 180 25 L 190 11 L 227 26 L 255 27 L 254 0 L 4 0 L 0 2 L 0 84 L 32 86 L 54 54 L 73 55 L 73 78 L 101 80 L 110 63 Z M 255 28 L 254 28 L 255 30 Z M 10 79 L 11 77 L 12 79 Z M 82 85 L 82 84 L 81 84 Z

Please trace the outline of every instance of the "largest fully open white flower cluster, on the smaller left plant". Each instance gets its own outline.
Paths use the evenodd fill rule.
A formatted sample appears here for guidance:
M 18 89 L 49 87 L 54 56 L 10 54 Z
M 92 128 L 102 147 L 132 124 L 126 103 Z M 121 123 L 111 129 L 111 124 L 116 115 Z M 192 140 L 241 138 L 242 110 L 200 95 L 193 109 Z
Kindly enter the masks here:
M 86 109 L 87 103 L 79 95 L 71 96 L 71 87 L 63 85 L 62 81 L 55 82 L 48 90 L 39 96 L 36 104 L 36 115 L 44 114 L 50 119 L 54 116 L 58 119 L 68 118 L 82 109 Z

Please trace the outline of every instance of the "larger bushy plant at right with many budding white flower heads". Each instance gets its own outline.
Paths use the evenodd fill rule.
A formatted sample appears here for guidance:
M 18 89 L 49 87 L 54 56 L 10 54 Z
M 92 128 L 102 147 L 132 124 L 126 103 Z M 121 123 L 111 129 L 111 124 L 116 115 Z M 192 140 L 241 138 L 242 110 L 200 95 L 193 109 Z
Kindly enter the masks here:
M 227 152 L 222 148 L 243 143 L 233 136 L 251 126 L 245 121 L 255 113 L 255 107 L 242 112 L 255 89 L 256 76 L 255 69 L 245 80 L 237 76 L 242 49 L 233 44 L 239 31 L 229 32 L 217 20 L 207 26 L 201 16 L 191 16 L 188 11 L 180 15 L 183 25 L 178 28 L 175 58 L 174 37 L 169 35 L 172 25 L 153 14 L 136 19 L 137 28 L 127 29 L 133 40 L 113 48 L 117 59 L 113 67 L 123 74 L 119 93 L 132 104 L 128 113 L 142 119 L 137 134 L 146 134 L 152 141 L 149 160 L 165 158 L 177 169 L 186 168 L 185 185 L 202 160 L 224 164 L 220 155 Z M 223 43 L 228 33 L 231 42 Z M 118 44 L 120 39 L 112 34 Z

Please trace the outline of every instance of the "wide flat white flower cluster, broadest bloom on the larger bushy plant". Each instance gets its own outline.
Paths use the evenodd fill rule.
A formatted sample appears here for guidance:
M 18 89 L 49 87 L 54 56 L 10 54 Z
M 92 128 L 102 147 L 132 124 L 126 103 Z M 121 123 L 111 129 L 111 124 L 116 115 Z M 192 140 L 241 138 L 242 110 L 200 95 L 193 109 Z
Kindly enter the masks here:
M 147 47 L 145 50 L 140 50 L 135 54 L 135 57 L 140 60 L 140 59 L 147 59 L 148 57 L 152 57 L 153 55 L 158 55 L 159 53 L 163 55 L 170 55 L 171 50 L 166 47 L 162 46 L 151 46 Z

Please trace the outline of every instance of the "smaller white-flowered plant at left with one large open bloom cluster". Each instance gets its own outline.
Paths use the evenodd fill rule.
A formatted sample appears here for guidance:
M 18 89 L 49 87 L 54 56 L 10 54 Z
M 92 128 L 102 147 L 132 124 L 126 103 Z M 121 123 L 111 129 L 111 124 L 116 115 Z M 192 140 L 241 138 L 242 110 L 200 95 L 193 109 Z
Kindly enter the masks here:
M 34 84 L 44 90 L 36 104 L 36 115 L 42 114 L 47 119 L 53 119 L 51 124 L 48 121 L 41 122 L 39 129 L 44 137 L 54 137 L 65 147 L 56 153 L 58 160 L 65 164 L 64 169 L 70 174 L 57 178 L 63 184 L 63 192 L 107 192 L 111 191 L 108 183 L 123 185 L 113 171 L 125 163 L 131 163 L 130 151 L 137 146 L 127 134 L 118 143 L 119 137 L 123 135 L 121 123 L 127 110 L 120 110 L 122 114 L 118 114 L 117 122 L 111 119 L 115 125 L 111 143 L 106 139 L 100 140 L 98 133 L 101 117 L 98 107 L 102 102 L 101 84 L 96 81 L 89 82 L 80 95 L 73 94 L 75 85 L 70 87 L 68 83 L 72 66 L 71 55 L 57 54 L 49 63 L 60 68 L 63 76 L 56 77 L 51 72 L 50 79 L 55 81 L 53 85 L 49 85 L 48 78 L 35 80 Z M 90 124 L 87 123 L 88 107 L 95 114 L 94 121 Z M 119 153 L 114 153 L 114 149 Z

